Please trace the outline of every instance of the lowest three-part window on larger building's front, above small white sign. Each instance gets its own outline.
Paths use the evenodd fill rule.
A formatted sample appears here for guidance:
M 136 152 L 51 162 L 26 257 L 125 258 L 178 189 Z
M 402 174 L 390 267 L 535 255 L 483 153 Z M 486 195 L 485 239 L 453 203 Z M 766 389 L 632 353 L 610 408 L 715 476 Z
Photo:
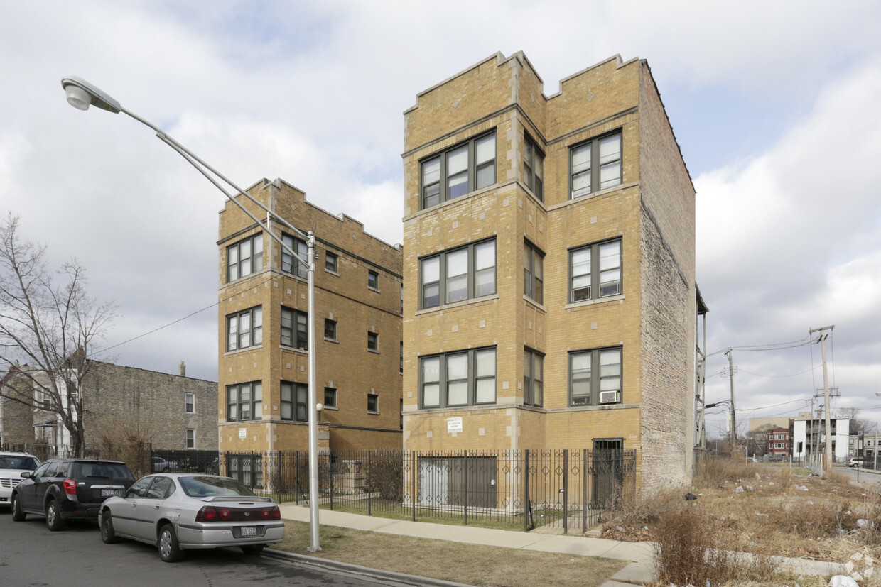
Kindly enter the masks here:
M 496 349 L 471 349 L 419 359 L 422 407 L 495 403 Z

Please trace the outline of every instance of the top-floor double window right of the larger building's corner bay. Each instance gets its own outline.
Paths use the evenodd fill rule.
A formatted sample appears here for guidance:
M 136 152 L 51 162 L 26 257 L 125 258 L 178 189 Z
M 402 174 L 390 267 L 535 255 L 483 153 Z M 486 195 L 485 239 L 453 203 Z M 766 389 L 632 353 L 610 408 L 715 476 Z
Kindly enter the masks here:
M 569 150 L 573 198 L 621 183 L 621 133 L 598 136 Z

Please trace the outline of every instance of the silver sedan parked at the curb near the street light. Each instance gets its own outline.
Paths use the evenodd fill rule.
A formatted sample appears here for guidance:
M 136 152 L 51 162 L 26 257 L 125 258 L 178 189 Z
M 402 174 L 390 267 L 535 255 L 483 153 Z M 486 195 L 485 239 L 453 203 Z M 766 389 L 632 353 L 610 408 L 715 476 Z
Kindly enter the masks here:
M 166 562 L 190 548 L 241 547 L 259 554 L 281 542 L 285 524 L 270 497 L 229 477 L 156 473 L 138 480 L 124 497 L 111 497 L 98 517 L 105 544 L 120 538 L 159 548 Z

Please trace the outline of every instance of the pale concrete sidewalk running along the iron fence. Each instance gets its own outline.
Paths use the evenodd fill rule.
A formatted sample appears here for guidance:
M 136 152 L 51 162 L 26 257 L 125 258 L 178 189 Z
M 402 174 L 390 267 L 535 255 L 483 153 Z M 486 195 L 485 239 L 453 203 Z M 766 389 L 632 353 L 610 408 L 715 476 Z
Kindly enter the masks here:
M 309 521 L 306 506 L 283 503 L 278 506 L 282 518 L 299 522 Z M 598 556 L 607 559 L 630 561 L 601 587 L 620 587 L 649 583 L 655 579 L 655 552 L 650 542 L 619 542 L 581 535 L 544 534 L 537 532 L 513 532 L 493 530 L 466 525 L 431 524 L 393 520 L 385 517 L 362 516 L 334 510 L 321 510 L 321 525 L 352 528 L 366 532 L 383 532 L 399 536 L 413 536 L 434 540 L 449 540 L 487 547 L 522 548 L 547 553 L 565 553 L 579 556 Z M 748 556 L 748 555 L 747 555 Z M 830 576 L 847 574 L 843 564 L 837 562 L 808 561 L 774 557 L 778 569 L 788 569 L 797 575 Z

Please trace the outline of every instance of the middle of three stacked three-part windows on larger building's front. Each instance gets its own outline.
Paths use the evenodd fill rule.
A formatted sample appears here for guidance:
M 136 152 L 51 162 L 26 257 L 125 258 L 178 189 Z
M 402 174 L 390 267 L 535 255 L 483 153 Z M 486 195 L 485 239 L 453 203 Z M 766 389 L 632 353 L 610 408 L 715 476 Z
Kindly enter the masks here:
M 495 239 L 420 260 L 420 306 L 433 308 L 494 294 L 495 262 Z

